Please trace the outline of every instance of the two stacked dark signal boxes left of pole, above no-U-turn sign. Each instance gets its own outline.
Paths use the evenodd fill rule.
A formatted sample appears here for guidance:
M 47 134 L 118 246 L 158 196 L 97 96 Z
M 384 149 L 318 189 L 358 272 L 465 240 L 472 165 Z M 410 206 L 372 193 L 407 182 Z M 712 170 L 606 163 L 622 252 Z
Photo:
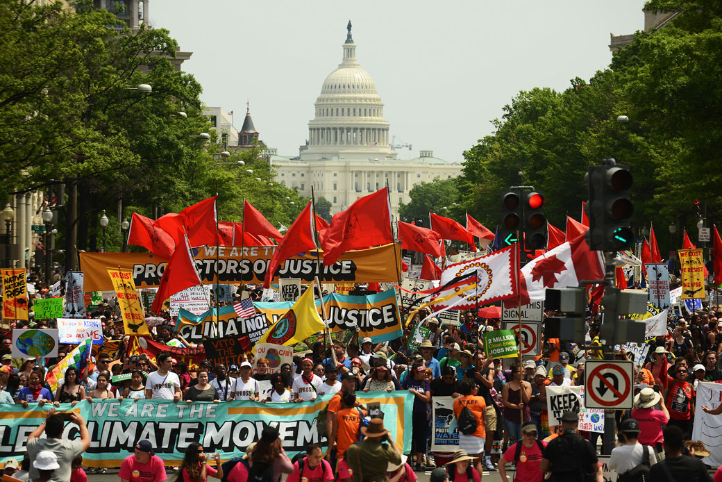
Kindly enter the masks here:
M 563 311 L 564 314 L 544 320 L 544 336 L 584 343 L 586 301 L 586 288 L 547 288 L 544 309 Z

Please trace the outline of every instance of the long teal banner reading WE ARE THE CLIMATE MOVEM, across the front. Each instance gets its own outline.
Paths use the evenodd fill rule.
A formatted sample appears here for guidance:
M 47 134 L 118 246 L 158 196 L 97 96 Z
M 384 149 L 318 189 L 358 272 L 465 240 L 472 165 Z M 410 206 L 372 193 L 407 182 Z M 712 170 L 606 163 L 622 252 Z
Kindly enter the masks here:
M 391 393 L 357 392 L 362 404 L 380 403 L 384 426 L 389 436 L 404 453 L 411 450 L 414 395 L 406 390 Z M 71 408 L 61 403 L 61 411 L 79 411 L 90 432 L 90 448 L 83 454 L 83 463 L 90 467 L 120 467 L 123 459 L 133 453 L 140 440 L 149 440 L 165 465 L 180 465 L 191 442 L 203 444 L 206 452 L 219 452 L 222 460 L 239 457 L 245 447 L 256 442 L 264 426 L 277 426 L 283 447 L 289 457 L 305 451 L 311 443 L 326 445 L 316 431 L 316 416 L 331 395 L 321 395 L 313 402 L 257 403 L 250 401 L 221 403 L 173 403 L 171 400 L 103 400 L 92 405 L 87 401 Z M 30 404 L 0 404 L 0 461 L 22 459 L 25 442 L 40 423 L 45 410 Z M 66 426 L 64 438 L 79 437 L 74 424 Z

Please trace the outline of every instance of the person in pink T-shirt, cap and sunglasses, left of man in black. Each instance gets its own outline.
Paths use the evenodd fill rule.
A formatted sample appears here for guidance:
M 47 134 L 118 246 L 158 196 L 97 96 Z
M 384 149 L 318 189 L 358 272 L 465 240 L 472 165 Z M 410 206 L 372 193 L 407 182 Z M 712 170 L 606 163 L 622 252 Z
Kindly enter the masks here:
M 525 422 L 521 426 L 521 440 L 511 444 L 499 459 L 499 475 L 502 482 L 508 482 L 505 467 L 508 462 L 511 462 L 512 470 L 516 470 L 514 481 L 540 482 L 544 478 L 539 463 L 547 444 L 537 439 L 538 435 L 536 423 L 533 421 Z

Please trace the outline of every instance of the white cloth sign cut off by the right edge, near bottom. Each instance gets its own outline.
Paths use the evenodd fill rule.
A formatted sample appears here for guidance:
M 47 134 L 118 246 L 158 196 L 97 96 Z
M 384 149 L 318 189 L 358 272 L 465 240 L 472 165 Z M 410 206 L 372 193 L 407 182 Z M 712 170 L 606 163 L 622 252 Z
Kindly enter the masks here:
M 699 440 L 710 451 L 710 456 L 702 459 L 707 465 L 722 465 L 722 445 L 719 443 L 720 416 L 710 415 L 703 406 L 713 410 L 722 403 L 722 384 L 700 382 L 697 384 L 697 403 L 695 422 L 692 425 L 692 440 Z

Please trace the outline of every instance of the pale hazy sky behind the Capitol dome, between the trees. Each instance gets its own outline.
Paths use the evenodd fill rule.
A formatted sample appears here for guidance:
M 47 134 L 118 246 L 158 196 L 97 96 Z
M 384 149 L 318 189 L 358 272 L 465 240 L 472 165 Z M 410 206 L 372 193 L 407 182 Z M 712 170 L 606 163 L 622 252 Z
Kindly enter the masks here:
M 323 79 L 342 60 L 353 23 L 356 58 L 376 82 L 390 137 L 445 160 L 492 132 L 490 121 L 519 90 L 564 90 L 612 59 L 609 33 L 644 26 L 645 0 L 474 0 L 447 2 L 151 0 L 150 23 L 170 30 L 183 69 L 207 106 L 245 101 L 261 139 L 298 154 Z

